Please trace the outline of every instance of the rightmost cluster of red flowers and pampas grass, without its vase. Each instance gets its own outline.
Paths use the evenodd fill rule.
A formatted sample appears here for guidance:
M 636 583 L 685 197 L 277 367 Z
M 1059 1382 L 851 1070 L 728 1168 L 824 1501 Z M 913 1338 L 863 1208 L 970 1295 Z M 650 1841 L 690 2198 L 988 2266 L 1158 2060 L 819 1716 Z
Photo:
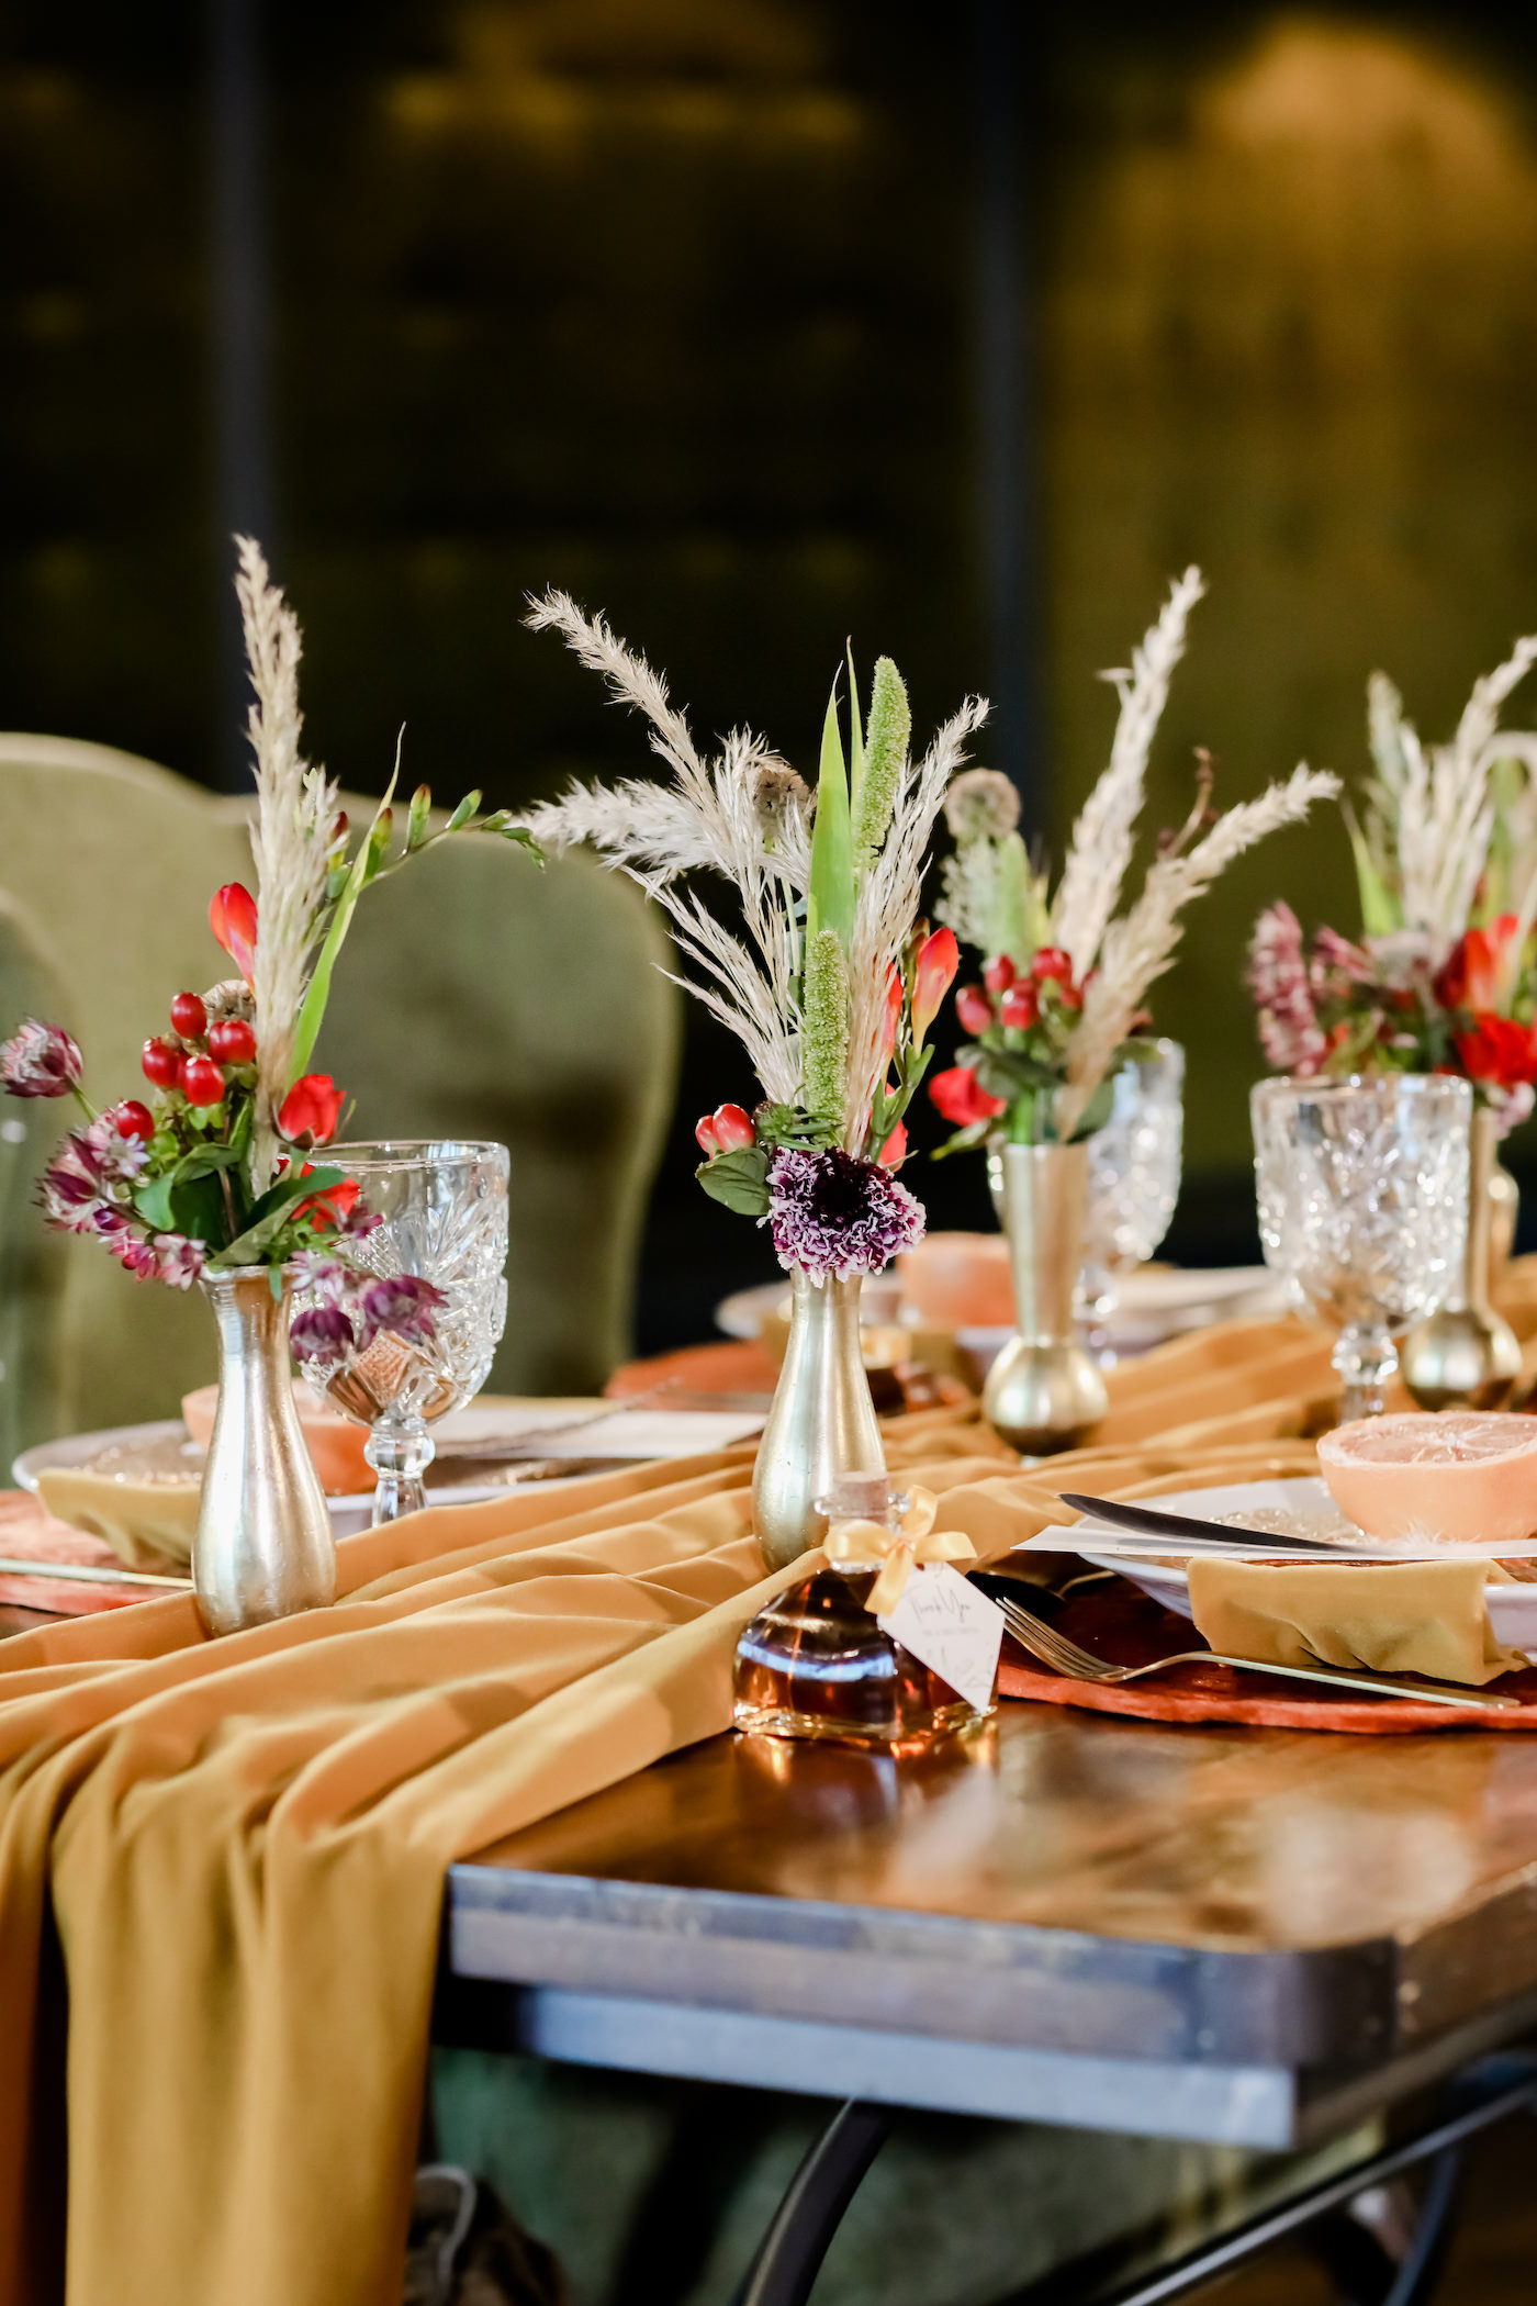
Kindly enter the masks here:
M 1260 913 L 1249 987 L 1260 1045 L 1300 1079 L 1461 1072 L 1502 1135 L 1537 1082 L 1537 736 L 1500 706 L 1537 662 L 1516 643 L 1475 683 L 1449 745 L 1422 745 L 1385 673 L 1369 683 L 1376 775 L 1346 807 L 1360 936 L 1304 943 L 1288 904 Z

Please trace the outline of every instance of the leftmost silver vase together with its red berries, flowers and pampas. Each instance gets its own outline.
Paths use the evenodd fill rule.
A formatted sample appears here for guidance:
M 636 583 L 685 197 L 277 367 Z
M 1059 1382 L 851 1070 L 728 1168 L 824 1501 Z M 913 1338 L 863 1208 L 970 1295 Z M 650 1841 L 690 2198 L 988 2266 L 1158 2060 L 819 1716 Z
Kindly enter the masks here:
M 334 1139 L 346 1105 L 309 1061 L 353 913 L 366 888 L 449 835 L 535 846 L 505 812 L 482 814 L 479 793 L 433 826 L 426 786 L 396 846 L 394 777 L 353 842 L 336 786 L 300 752 L 297 620 L 247 537 L 237 595 L 256 689 L 256 895 L 228 883 L 207 913 L 237 973 L 175 994 L 168 1031 L 143 1045 L 145 1098 L 106 1111 L 88 1102 L 81 1049 L 62 1026 L 28 1019 L 0 1049 L 12 1095 L 74 1095 L 85 1114 L 41 1178 L 48 1224 L 99 1241 L 138 1280 L 200 1282 L 212 1305 L 219 1411 L 191 1559 L 210 1633 L 320 1607 L 334 1593 L 332 1527 L 293 1407 L 290 1349 L 311 1367 L 341 1367 L 383 1333 L 410 1351 L 431 1342 L 442 1310 L 419 1275 L 369 1268 L 378 1220 L 359 1206 L 357 1181 L 309 1158 Z M 295 1287 L 306 1305 L 290 1321 Z

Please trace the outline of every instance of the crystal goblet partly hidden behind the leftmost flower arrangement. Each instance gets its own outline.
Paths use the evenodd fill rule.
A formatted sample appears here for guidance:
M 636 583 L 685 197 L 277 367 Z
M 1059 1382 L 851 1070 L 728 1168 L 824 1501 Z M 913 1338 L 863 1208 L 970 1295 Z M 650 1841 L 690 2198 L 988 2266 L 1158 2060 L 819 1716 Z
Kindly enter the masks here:
M 378 1275 L 415 1273 L 445 1305 L 426 1344 L 383 1331 L 341 1367 L 302 1358 L 316 1391 L 369 1427 L 364 1457 L 378 1476 L 373 1520 L 426 1504 L 429 1432 L 486 1384 L 507 1321 L 507 1146 L 408 1139 L 327 1146 L 327 1165 L 357 1178 L 357 1206 L 380 1222 L 355 1243 Z

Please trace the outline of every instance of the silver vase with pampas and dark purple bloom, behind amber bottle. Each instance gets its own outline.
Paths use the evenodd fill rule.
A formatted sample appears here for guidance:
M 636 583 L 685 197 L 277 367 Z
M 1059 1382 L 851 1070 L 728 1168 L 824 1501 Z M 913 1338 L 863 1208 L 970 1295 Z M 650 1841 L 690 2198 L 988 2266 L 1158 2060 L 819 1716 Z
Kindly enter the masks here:
M 966 703 L 915 763 L 896 666 L 876 662 L 862 717 L 850 660 L 848 736 L 834 685 L 811 789 L 744 729 L 703 761 L 650 664 L 565 593 L 548 593 L 530 625 L 560 632 L 650 719 L 666 775 L 574 786 L 523 826 L 544 846 L 592 844 L 654 897 L 694 971 L 677 982 L 740 1038 L 758 1075 L 751 1111 L 721 1105 L 698 1123 L 698 1181 L 767 1224 L 790 1273 L 790 1342 L 754 1476 L 765 1554 L 790 1561 L 827 1527 L 816 1506 L 827 1485 L 885 1462 L 857 1291 L 924 1229 L 896 1167 L 959 950 L 949 929 L 931 936 L 919 922 L 919 888 L 986 708 Z M 735 925 L 696 890 L 701 872 L 735 897 Z

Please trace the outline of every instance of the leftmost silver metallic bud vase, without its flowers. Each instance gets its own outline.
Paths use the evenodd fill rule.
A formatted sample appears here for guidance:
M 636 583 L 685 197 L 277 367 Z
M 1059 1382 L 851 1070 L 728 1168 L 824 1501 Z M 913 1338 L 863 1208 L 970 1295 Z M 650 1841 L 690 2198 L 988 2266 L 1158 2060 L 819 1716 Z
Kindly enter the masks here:
M 219 1409 L 207 1444 L 191 1582 L 210 1633 L 240 1633 L 336 1598 L 336 1545 L 288 1365 L 293 1282 L 265 1266 L 205 1273 L 219 1328 Z

